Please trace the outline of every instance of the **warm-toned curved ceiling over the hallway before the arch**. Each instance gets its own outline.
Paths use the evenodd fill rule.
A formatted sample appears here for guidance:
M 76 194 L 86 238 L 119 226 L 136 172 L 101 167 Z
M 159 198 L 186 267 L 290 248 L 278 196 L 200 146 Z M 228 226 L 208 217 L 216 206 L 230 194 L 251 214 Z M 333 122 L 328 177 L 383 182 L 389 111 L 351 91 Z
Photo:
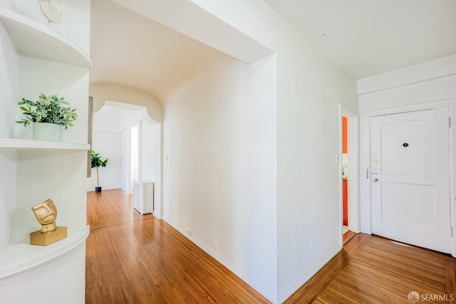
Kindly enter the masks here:
M 127 85 L 166 100 L 227 56 L 112 1 L 91 1 L 90 9 L 90 84 Z

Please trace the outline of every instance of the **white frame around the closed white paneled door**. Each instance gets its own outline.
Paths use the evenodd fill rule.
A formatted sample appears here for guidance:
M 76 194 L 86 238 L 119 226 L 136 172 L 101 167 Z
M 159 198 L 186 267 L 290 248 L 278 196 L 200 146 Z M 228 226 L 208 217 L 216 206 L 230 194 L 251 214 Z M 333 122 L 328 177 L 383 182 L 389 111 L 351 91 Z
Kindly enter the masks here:
M 360 214 L 361 214 L 361 232 L 365 234 L 372 234 L 372 200 L 371 200 L 371 117 L 378 115 L 390 115 L 401 112 L 413 112 L 419 110 L 432 110 L 436 108 L 448 108 L 450 116 L 451 127 L 448 130 L 449 140 L 449 159 L 450 168 L 450 224 L 452 229 L 452 256 L 456 257 L 456 238 L 455 238 L 455 223 L 456 223 L 456 196 L 455 196 L 455 176 L 456 176 L 456 156 L 454 144 L 456 142 L 456 98 L 448 100 L 440 100 L 433 103 L 423 103 L 418 105 L 406 105 L 397 108 L 385 108 L 382 110 L 366 111 L 361 115 L 361 129 L 360 138 L 362 144 L 360 145 Z

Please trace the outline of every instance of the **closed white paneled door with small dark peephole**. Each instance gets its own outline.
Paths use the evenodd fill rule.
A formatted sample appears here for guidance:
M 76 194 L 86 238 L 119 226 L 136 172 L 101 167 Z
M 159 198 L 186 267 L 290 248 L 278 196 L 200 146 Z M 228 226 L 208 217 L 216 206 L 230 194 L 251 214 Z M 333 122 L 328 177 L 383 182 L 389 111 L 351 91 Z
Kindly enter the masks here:
M 371 118 L 372 232 L 451 253 L 448 109 Z

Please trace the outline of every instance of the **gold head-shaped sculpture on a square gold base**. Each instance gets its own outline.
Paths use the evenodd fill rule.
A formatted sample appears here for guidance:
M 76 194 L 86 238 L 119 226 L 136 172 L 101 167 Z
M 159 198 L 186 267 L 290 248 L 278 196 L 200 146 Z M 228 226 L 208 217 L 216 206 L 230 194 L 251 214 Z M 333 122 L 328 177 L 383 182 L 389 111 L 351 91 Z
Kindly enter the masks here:
M 33 245 L 48 246 L 51 243 L 66 238 L 66 227 L 56 226 L 57 208 L 51 199 L 31 207 L 41 224 L 41 230 L 30 234 L 30 243 Z

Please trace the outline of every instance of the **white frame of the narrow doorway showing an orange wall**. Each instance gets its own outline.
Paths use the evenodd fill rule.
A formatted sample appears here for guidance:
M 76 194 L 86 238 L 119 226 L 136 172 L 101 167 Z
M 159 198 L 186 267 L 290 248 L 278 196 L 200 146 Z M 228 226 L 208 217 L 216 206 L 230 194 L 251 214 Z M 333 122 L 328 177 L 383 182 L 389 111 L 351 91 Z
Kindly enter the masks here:
M 342 116 L 348 118 L 347 127 L 347 145 L 349 157 L 348 166 L 348 229 L 353 232 L 361 232 L 361 221 L 360 221 L 360 201 L 359 201 L 359 114 L 356 110 L 353 110 L 346 105 L 339 103 L 339 207 L 340 207 L 340 229 L 341 229 L 341 243 L 343 243 L 342 233 L 342 216 L 343 216 L 343 194 L 342 194 Z

